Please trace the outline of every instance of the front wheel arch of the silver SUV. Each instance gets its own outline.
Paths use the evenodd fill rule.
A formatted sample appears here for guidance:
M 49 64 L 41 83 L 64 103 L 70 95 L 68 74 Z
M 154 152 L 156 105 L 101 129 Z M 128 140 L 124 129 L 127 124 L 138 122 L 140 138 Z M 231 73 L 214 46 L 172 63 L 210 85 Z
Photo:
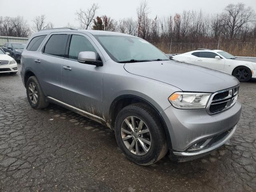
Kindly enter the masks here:
M 167 143 L 168 143 L 168 147 L 171 150 L 172 149 L 172 142 L 171 142 L 170 134 L 169 134 L 168 128 L 166 126 L 166 123 L 164 121 L 164 118 L 162 117 L 160 112 L 157 110 L 157 108 L 153 104 L 151 104 L 150 102 L 148 102 L 147 100 L 145 100 L 144 98 L 141 98 L 139 96 L 122 95 L 122 96 L 118 96 L 117 98 L 114 99 L 114 101 L 110 105 L 110 110 L 109 110 L 109 118 L 110 118 L 111 128 L 114 128 L 116 116 L 122 108 L 124 108 L 125 106 L 128 106 L 130 104 L 138 103 L 138 102 L 141 102 L 141 103 L 144 103 L 144 104 L 148 105 L 155 112 L 155 114 L 158 116 L 158 118 L 160 119 L 160 122 L 161 122 L 161 124 L 164 128 L 164 132 L 165 132 L 165 135 L 166 135 L 166 140 L 167 140 Z

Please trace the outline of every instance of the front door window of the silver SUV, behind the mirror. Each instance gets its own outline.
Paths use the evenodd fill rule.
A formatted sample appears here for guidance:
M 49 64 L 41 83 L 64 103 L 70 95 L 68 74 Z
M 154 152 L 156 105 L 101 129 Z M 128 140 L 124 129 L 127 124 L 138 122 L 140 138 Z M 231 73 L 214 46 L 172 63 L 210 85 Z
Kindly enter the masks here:
M 96 53 L 96 56 L 98 56 L 97 51 L 86 37 L 72 35 L 68 51 L 68 58 L 77 60 L 78 54 L 82 51 L 93 51 Z

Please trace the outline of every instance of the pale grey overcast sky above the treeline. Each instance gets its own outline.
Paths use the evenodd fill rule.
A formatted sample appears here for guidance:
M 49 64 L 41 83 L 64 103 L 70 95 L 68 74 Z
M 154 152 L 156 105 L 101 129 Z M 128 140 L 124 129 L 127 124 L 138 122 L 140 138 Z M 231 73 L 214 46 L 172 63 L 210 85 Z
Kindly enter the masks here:
M 63 27 L 68 22 L 78 26 L 76 11 L 98 3 L 96 15 L 106 14 L 116 20 L 136 17 L 136 7 L 140 0 L 0 0 L 0 16 L 23 16 L 29 24 L 36 15 L 45 14 L 47 22 L 54 27 Z M 256 0 L 148 0 L 149 16 L 154 18 L 174 15 L 183 10 L 200 10 L 205 13 L 219 13 L 230 3 L 243 2 L 256 11 Z

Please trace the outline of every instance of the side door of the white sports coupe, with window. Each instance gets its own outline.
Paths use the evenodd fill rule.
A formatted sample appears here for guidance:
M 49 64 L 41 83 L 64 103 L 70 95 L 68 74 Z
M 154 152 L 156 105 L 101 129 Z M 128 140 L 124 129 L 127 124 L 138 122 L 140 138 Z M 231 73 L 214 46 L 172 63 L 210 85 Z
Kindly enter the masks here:
M 213 52 L 197 52 L 198 58 L 196 59 L 195 64 L 210 69 L 223 71 L 225 66 L 225 60 L 223 58 L 216 59 L 215 56 L 218 56 Z M 195 55 L 194 55 L 195 56 Z

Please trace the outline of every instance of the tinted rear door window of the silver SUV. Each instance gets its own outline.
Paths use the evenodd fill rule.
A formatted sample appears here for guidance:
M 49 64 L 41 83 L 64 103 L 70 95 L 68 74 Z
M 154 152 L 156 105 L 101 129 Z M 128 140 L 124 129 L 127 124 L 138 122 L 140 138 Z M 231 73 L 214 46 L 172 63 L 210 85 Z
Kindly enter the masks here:
M 67 34 L 52 35 L 44 46 L 43 52 L 54 56 L 64 57 L 67 41 Z

